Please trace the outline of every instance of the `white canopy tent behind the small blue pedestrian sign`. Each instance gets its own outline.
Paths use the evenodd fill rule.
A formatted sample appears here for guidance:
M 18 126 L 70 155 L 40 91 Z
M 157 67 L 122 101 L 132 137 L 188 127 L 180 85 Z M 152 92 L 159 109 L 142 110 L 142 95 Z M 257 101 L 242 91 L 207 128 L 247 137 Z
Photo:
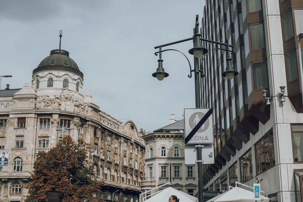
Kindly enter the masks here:
M 240 187 L 234 187 L 206 202 L 255 202 L 255 200 L 254 192 Z M 260 200 L 258 200 L 258 202 L 271 202 L 271 199 L 260 195 Z

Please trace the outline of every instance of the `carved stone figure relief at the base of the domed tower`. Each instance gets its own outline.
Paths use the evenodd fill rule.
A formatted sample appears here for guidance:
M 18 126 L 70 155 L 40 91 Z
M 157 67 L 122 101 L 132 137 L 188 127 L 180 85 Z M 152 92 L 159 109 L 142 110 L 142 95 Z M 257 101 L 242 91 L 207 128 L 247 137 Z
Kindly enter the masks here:
M 50 98 L 49 95 L 39 96 L 35 104 L 36 109 L 60 109 L 88 115 L 88 105 L 74 100 L 74 95 L 68 88 L 62 89 L 60 95 L 55 95 L 54 98 Z

